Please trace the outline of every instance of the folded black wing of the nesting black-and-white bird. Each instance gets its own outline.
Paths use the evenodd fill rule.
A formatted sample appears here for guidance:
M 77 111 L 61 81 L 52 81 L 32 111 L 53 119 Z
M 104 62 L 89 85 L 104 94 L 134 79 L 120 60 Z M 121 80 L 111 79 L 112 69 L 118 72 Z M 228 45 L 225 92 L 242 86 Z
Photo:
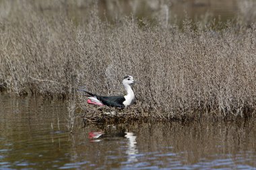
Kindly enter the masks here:
M 125 101 L 125 97 L 123 96 L 98 96 L 96 95 L 97 99 L 99 99 L 104 105 L 108 105 L 110 107 L 115 108 L 125 108 L 123 101 Z

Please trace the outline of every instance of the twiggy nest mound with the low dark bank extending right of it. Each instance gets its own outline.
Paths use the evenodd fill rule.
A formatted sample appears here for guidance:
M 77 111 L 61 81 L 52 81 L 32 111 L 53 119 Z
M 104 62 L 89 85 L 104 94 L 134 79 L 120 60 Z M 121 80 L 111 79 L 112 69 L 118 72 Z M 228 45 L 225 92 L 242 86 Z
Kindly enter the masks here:
M 239 122 L 255 119 L 255 111 L 249 110 L 243 114 L 226 114 L 219 112 L 195 111 L 183 114 L 170 114 L 164 112 L 143 112 L 138 105 L 133 105 L 123 110 L 87 105 L 83 112 L 84 126 L 90 124 L 129 124 L 131 122 Z

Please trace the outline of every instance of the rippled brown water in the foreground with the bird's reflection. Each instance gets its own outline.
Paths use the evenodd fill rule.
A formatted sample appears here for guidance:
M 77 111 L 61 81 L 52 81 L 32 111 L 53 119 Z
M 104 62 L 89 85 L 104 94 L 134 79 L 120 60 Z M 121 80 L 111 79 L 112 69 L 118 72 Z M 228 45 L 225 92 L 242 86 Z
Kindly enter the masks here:
M 76 126 L 69 134 L 61 101 L 0 93 L 0 105 L 0 169 L 256 169 L 255 120 Z

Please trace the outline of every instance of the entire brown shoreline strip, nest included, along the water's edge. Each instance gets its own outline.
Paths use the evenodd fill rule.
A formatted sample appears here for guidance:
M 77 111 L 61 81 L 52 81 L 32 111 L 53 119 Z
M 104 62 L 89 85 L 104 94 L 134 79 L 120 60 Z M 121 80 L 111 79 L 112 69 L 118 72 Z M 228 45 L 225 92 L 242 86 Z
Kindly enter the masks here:
M 244 112 L 243 115 L 227 114 L 224 116 L 222 113 L 218 112 L 207 112 L 207 110 L 200 110 L 197 108 L 197 111 L 193 112 L 184 112 L 177 114 L 170 114 L 161 111 L 143 111 L 140 107 L 141 103 L 138 103 L 129 106 L 124 109 L 110 108 L 108 106 L 98 106 L 91 105 L 88 103 L 74 103 L 73 99 L 64 99 L 59 96 L 42 96 L 42 95 L 13 95 L 8 93 L 5 89 L 1 89 L 0 95 L 7 95 L 8 97 L 30 97 L 31 99 L 49 100 L 49 101 L 61 101 L 67 105 L 67 114 L 73 112 L 73 118 L 79 117 L 79 120 L 82 120 L 85 126 L 90 124 L 129 124 L 131 122 L 198 122 L 207 121 L 207 122 L 236 122 L 236 121 L 246 121 L 256 118 L 255 110 L 250 110 L 250 112 Z M 38 99 L 36 99 L 38 97 Z M 71 104 L 72 103 L 72 104 Z M 75 107 L 73 107 L 75 105 Z M 83 105 L 83 106 L 82 106 Z M 72 108 L 73 110 L 69 110 Z M 79 113 L 79 114 L 78 114 Z M 78 114 L 78 115 L 77 115 Z M 70 117 L 70 119 L 72 119 Z M 68 120 L 69 122 L 70 120 Z

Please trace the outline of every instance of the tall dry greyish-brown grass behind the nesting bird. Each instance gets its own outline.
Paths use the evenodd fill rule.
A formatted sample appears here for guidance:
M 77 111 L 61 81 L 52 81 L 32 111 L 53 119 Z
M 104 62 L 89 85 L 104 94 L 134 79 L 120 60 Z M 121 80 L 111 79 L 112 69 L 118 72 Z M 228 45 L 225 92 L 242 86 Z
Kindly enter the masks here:
M 121 111 L 132 119 L 255 113 L 255 24 L 188 20 L 181 30 L 126 17 L 110 25 L 93 11 L 77 26 L 61 10 L 47 15 L 30 5 L 0 20 L 0 86 L 9 92 L 68 97 L 84 86 L 119 95 L 121 79 L 133 75 L 141 82 L 134 87 L 137 104 Z M 71 98 L 71 108 L 75 101 L 86 118 L 109 110 Z

